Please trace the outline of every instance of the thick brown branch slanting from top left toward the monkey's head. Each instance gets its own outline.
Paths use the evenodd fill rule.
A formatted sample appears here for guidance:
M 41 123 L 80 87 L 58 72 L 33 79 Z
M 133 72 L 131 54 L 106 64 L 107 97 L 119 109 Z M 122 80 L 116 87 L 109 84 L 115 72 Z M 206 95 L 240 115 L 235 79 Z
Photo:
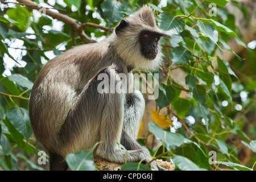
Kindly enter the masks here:
M 85 43 L 95 43 L 96 40 L 90 39 L 85 32 L 80 28 L 80 23 L 67 15 L 53 12 L 45 7 L 42 7 L 35 2 L 32 2 L 30 0 L 16 0 L 19 2 L 20 5 L 25 5 L 27 7 L 30 7 L 31 9 L 38 10 L 41 13 L 45 13 L 48 16 L 51 16 L 54 19 L 58 19 L 61 22 L 67 23 L 71 26 L 71 28 L 77 32 L 77 34 L 80 36 L 82 40 L 84 40 Z

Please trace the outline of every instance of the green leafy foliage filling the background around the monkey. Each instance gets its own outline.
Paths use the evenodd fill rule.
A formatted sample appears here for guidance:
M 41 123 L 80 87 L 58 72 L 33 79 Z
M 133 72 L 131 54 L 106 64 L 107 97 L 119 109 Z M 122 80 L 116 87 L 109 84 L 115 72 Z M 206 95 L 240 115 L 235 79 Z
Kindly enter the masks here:
M 148 136 L 154 134 L 160 144 L 149 147 L 152 156 L 164 160 L 171 157 L 176 170 L 255 169 L 256 51 L 255 46 L 246 47 L 248 40 L 240 39 L 244 36 L 241 27 L 226 8 L 232 4 L 241 9 L 245 23 L 253 27 L 249 9 L 243 3 L 36 0 L 40 6 L 28 6 L 29 2 L 0 1 L 1 170 L 45 168 L 37 162 L 42 146 L 32 133 L 28 117 L 30 90 L 43 65 L 65 49 L 104 39 L 123 16 L 145 3 L 154 9 L 156 22 L 171 39 L 162 41 L 166 59 L 158 72 L 162 82 L 159 98 L 154 103 L 147 101 L 150 109 L 145 115 L 152 119 L 143 119 L 139 142 L 146 144 Z M 216 16 L 209 16 L 211 2 L 217 5 Z M 53 19 L 42 14 L 41 7 L 92 24 L 79 29 L 81 23 Z M 230 40 L 242 46 L 243 51 L 235 53 L 230 48 L 233 45 L 228 44 Z M 235 56 L 222 59 L 227 52 Z M 216 152 L 217 163 L 209 164 L 209 151 Z M 69 155 L 69 167 L 95 169 L 91 154 L 92 150 Z M 85 155 L 88 158 L 83 158 Z M 92 163 L 86 168 L 84 164 L 88 162 Z M 138 164 L 125 164 L 122 169 L 137 167 Z M 148 169 L 142 164 L 141 167 Z

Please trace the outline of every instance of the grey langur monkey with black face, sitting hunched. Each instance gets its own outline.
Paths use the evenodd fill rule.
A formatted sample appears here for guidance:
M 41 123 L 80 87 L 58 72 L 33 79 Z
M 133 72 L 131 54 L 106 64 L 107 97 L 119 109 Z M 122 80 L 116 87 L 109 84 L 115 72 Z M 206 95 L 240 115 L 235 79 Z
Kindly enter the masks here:
M 122 19 L 105 40 L 76 46 L 44 65 L 31 90 L 29 114 L 35 137 L 49 152 L 50 170 L 67 169 L 65 156 L 100 141 L 94 156 L 117 163 L 151 161 L 135 140 L 145 107 L 141 92 L 98 93 L 97 76 L 158 68 L 162 36 L 168 37 L 146 5 Z M 150 167 L 162 169 L 155 161 Z

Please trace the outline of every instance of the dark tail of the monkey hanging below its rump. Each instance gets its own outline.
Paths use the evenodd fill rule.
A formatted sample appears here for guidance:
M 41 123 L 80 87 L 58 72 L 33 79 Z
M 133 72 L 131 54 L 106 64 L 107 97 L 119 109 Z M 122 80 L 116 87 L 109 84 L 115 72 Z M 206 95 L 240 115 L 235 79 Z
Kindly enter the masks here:
M 63 156 L 49 152 L 49 169 L 50 171 L 66 171 L 68 164 Z

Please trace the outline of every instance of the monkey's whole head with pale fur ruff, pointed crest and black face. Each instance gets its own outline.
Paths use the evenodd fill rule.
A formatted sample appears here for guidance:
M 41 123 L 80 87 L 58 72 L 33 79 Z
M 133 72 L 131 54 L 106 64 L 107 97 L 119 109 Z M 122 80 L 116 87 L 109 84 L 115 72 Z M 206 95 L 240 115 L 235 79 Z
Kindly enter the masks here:
M 131 68 L 156 69 L 162 63 L 161 37 L 169 37 L 156 26 L 151 7 L 143 6 L 115 27 L 113 46 Z

